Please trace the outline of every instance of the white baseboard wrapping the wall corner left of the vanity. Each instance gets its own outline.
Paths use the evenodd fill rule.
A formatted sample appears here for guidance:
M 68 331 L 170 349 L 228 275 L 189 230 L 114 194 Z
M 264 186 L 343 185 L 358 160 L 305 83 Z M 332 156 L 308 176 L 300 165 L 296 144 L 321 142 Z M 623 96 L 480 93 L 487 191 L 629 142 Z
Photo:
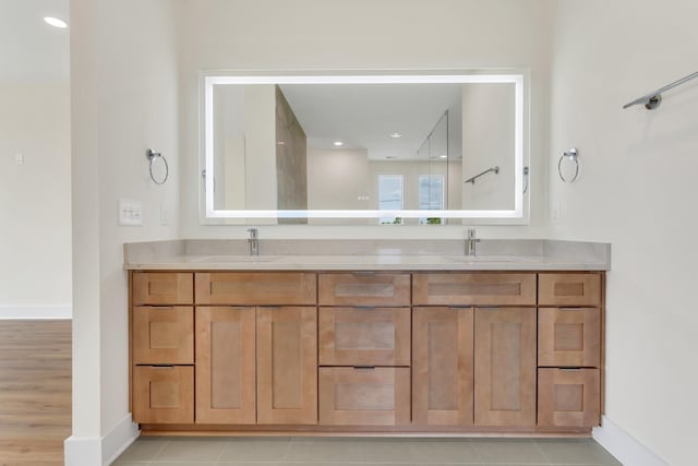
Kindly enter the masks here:
M 128 415 L 105 437 L 65 439 L 65 466 L 109 466 L 139 438 L 139 425 Z

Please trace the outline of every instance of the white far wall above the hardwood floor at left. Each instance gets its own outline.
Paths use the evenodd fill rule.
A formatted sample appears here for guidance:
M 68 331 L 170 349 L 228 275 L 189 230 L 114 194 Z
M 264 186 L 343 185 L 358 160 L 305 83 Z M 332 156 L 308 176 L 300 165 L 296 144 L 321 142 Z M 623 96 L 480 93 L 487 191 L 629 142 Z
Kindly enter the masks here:
M 1 83 L 0 103 L 0 315 L 70 316 L 70 86 Z

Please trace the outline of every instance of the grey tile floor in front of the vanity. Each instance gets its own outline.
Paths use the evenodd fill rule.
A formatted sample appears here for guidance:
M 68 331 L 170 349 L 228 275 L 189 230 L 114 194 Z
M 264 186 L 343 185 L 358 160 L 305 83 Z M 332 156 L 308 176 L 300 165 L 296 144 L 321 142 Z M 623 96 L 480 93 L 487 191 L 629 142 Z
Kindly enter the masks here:
M 621 465 L 591 439 L 141 438 L 113 466 Z

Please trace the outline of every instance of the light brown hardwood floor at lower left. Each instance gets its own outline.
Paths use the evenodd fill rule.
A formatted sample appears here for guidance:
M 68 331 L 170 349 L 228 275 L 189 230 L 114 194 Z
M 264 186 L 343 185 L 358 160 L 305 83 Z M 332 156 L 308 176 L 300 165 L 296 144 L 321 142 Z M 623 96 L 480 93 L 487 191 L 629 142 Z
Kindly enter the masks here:
M 0 466 L 62 466 L 71 321 L 0 321 Z

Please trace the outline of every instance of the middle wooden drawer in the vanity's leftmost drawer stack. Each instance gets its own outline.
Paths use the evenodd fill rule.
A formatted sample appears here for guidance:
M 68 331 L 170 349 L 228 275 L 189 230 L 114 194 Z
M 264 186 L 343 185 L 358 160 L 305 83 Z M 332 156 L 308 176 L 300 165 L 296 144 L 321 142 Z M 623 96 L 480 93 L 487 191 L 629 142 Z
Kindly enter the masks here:
M 194 363 L 192 307 L 133 308 L 133 362 L 136 365 Z

